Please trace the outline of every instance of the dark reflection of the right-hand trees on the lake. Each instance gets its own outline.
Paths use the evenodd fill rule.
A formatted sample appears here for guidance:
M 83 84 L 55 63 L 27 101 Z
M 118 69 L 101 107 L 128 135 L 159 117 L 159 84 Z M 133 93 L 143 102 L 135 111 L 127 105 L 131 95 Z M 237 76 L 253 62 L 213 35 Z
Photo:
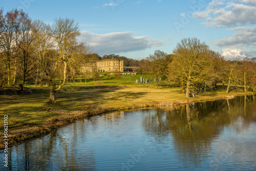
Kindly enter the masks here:
M 144 117 L 143 126 L 146 131 L 154 133 L 158 139 L 163 141 L 166 140 L 164 136 L 172 134 L 177 158 L 188 167 L 198 167 L 209 156 L 212 143 L 217 141 L 227 127 L 229 131 L 239 134 L 248 131 L 251 123 L 255 126 L 256 103 L 254 98 L 255 96 L 241 96 L 158 109 L 154 115 Z M 252 136 L 249 137 L 250 140 L 255 143 L 255 134 L 250 136 Z M 240 143 L 234 144 L 235 142 L 231 140 L 225 143 L 220 146 L 223 149 L 217 155 L 227 156 L 226 151 L 230 150 L 233 153 L 236 152 L 237 155 L 234 157 L 250 156 L 252 157 L 250 161 L 256 163 L 255 150 L 246 154 L 248 149 L 241 150 Z M 245 144 L 249 145 L 249 149 L 254 149 L 251 143 L 243 142 L 243 146 Z M 241 155 L 241 151 L 245 154 Z M 243 159 L 240 158 L 241 161 Z M 211 164 L 212 161 L 215 162 L 216 159 L 212 159 Z M 217 168 L 217 165 L 212 166 Z

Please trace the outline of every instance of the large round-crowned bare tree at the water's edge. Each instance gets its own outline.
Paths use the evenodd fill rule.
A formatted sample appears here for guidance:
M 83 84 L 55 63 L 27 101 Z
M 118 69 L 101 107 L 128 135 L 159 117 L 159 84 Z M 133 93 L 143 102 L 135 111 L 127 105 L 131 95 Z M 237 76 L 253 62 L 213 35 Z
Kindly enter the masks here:
M 209 47 L 197 38 L 184 38 L 173 50 L 175 58 L 169 70 L 174 70 L 186 81 L 186 97 L 189 98 L 191 83 L 204 82 L 209 77 Z

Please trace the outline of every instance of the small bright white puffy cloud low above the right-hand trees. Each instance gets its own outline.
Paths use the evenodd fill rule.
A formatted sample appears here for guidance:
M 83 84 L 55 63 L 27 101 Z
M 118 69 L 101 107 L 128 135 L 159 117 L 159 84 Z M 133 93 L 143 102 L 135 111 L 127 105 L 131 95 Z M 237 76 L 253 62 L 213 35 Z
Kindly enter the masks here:
M 222 49 L 222 53 L 221 53 L 225 59 L 244 59 L 246 57 L 246 55 L 242 52 L 241 49 Z

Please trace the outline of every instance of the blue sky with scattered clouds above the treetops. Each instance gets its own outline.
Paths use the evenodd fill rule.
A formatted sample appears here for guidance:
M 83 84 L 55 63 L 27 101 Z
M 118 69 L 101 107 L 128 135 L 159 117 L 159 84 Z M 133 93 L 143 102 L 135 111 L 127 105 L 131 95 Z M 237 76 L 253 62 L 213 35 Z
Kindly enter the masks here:
M 1 7 L 50 25 L 73 18 L 78 40 L 100 56 L 172 54 L 181 39 L 196 37 L 226 59 L 256 57 L 256 0 L 0 0 Z

